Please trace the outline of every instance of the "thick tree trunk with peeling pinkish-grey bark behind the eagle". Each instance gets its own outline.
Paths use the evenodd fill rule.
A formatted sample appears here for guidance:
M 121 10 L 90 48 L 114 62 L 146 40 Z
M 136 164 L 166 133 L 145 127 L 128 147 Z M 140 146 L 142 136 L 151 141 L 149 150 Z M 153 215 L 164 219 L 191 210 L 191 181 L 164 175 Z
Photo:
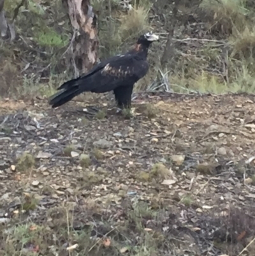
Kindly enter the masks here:
M 1 1 L 1 0 L 0 0 Z M 75 77 L 91 70 L 98 57 L 96 15 L 89 0 L 62 0 L 68 8 L 74 36 L 71 42 Z

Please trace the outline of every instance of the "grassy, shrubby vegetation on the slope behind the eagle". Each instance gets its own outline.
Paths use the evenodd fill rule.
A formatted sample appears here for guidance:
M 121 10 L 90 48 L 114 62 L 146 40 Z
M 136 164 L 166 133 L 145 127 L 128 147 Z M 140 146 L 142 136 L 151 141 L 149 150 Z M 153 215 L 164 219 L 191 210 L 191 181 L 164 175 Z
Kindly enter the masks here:
M 20 0 L 6 1 L 8 19 Z M 91 1 L 98 15 L 99 59 L 128 49 L 152 30 L 161 41 L 150 50 L 150 73 L 137 90 L 225 93 L 254 91 L 254 4 L 245 0 Z M 173 27 L 174 26 L 174 27 Z M 1 95 L 48 96 L 72 76 L 72 36 L 60 0 L 27 0 L 15 20 L 17 39 L 1 41 Z M 166 39 L 174 29 L 166 65 Z M 168 49 L 169 50 L 169 49 Z M 17 86 L 17 84 L 19 86 Z

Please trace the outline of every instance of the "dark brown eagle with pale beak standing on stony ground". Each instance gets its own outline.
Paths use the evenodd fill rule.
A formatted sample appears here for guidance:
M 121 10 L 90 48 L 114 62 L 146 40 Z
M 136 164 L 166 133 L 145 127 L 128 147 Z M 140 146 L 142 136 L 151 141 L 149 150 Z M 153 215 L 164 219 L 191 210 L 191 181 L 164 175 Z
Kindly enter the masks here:
M 138 38 L 135 48 L 124 55 L 117 55 L 96 64 L 88 73 L 69 80 L 57 88 L 60 90 L 50 97 L 50 105 L 59 107 L 80 93 L 106 93 L 113 91 L 120 108 L 131 107 L 131 96 L 135 83 L 149 70 L 147 54 L 150 44 L 159 40 L 152 33 Z

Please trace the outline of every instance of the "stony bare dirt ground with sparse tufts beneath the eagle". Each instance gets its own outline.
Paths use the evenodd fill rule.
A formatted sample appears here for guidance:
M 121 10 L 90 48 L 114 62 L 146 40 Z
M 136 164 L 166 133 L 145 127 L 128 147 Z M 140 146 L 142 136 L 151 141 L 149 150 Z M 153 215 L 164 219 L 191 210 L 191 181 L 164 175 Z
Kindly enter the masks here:
M 254 255 L 254 102 L 149 94 L 131 119 L 1 102 L 0 254 Z

